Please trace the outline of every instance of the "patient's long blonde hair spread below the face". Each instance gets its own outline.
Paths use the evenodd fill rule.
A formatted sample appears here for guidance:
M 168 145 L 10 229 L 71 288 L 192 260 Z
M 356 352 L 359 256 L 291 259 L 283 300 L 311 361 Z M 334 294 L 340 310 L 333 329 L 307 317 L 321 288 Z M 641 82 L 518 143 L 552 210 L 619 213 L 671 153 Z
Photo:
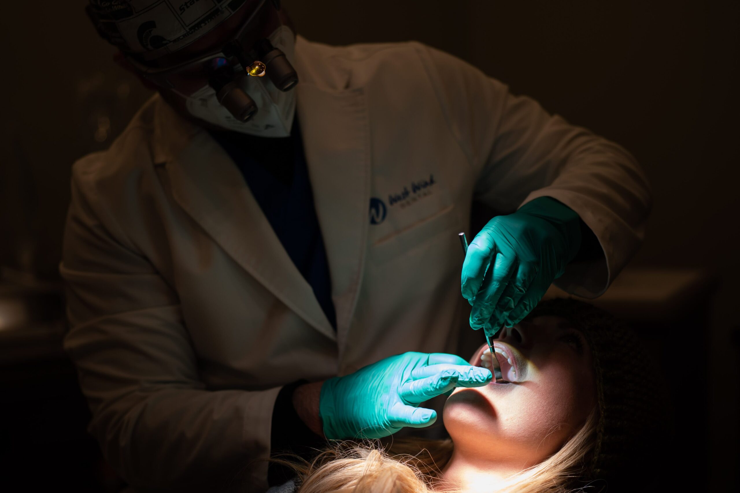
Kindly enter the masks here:
M 581 477 L 593 450 L 596 410 L 553 455 L 508 478 L 497 493 L 568 493 Z M 311 462 L 274 459 L 298 475 L 297 493 L 440 493 L 440 472 L 452 455 L 452 441 L 395 441 L 388 449 L 379 443 L 340 442 Z

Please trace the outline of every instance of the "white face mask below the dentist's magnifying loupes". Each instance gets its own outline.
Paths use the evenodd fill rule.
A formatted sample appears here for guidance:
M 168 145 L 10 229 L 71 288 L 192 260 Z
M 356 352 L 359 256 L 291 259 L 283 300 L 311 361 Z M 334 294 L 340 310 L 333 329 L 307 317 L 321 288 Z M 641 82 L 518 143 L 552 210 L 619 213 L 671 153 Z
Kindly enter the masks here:
M 280 26 L 271 35 L 272 46 L 285 53 L 289 62 L 295 55 L 295 35 L 287 26 Z M 269 77 L 251 77 L 242 74 L 236 84 L 257 104 L 258 111 L 247 122 L 237 120 L 216 98 L 215 89 L 203 86 L 192 95 L 185 96 L 188 112 L 196 118 L 224 129 L 258 137 L 288 137 L 295 116 L 295 89 L 283 92 L 272 84 Z

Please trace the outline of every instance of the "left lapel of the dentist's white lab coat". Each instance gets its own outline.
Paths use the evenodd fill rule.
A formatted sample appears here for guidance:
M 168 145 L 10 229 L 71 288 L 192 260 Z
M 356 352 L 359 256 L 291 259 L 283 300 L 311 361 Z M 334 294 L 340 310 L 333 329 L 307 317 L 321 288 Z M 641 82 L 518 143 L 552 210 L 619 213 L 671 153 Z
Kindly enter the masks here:
M 208 132 L 196 132 L 166 164 L 172 194 L 224 251 L 312 327 L 334 329 L 235 163 Z

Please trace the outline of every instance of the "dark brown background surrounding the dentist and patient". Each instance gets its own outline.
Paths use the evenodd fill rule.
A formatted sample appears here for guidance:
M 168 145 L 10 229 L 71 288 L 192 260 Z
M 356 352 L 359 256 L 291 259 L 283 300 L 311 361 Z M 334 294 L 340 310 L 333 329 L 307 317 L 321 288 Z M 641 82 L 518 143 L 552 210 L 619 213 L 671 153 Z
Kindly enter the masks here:
M 0 18 L 0 298 L 32 297 L 33 326 L 41 327 L 32 336 L 18 324 L 3 330 L 2 317 L 12 318 L 13 310 L 3 313 L 7 304 L 0 303 L 0 382 L 10 390 L 0 403 L 0 439 L 33 456 L 24 473 L 56 475 L 59 486 L 79 481 L 70 472 L 75 467 L 94 469 L 90 485 L 75 483 L 79 491 L 95 489 L 93 483 L 113 489 L 115 477 L 96 458 L 95 447 L 78 438 L 86 411 L 73 395 L 73 371 L 55 342 L 64 330 L 53 293 L 70 166 L 107 149 L 150 95 L 112 62 L 114 50 L 97 38 L 84 4 L 6 2 Z M 684 363 L 670 370 L 675 378 L 687 371 L 702 376 L 700 387 L 683 390 L 676 411 L 682 434 L 706 435 L 703 446 L 687 441 L 682 450 L 706 467 L 682 474 L 701 476 L 707 490 L 737 491 L 740 2 L 283 4 L 309 40 L 423 41 L 636 156 L 650 177 L 654 207 L 647 239 L 630 267 L 696 268 L 716 287 L 693 333 L 662 328 L 671 347 L 684 351 L 678 359 Z M 676 338 L 682 338 L 677 345 Z M 18 426 L 29 415 L 38 415 L 48 429 Z M 80 447 L 75 460 L 65 457 L 73 442 Z M 4 458 L 14 453 L 6 447 Z

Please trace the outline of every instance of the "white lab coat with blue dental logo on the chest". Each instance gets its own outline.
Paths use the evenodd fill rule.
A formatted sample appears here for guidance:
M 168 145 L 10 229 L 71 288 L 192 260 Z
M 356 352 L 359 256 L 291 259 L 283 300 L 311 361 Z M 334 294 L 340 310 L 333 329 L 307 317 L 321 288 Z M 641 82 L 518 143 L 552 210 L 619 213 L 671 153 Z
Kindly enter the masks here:
M 557 283 L 582 296 L 642 240 L 650 197 L 625 149 L 457 58 L 300 37 L 295 58 L 336 333 L 238 168 L 160 98 L 75 163 L 65 347 L 90 431 L 134 485 L 208 490 L 242 470 L 263 489 L 266 463 L 248 462 L 269 455 L 283 384 L 454 351 L 467 307 L 457 233 L 474 198 L 505 213 L 542 196 L 573 208 L 604 251 Z

